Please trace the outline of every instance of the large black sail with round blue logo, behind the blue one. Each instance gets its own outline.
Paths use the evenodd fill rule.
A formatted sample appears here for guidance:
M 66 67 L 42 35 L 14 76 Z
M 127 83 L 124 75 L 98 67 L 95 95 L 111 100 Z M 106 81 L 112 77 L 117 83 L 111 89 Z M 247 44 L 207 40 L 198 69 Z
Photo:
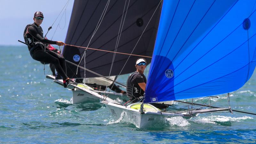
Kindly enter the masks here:
M 155 12 L 160 1 L 158 0 L 131 0 L 128 6 L 124 21 L 121 38 L 118 44 L 117 52 L 131 53 L 138 42 L 143 30 L 146 28 L 151 16 Z M 71 19 L 69 22 L 66 44 L 87 47 L 92 34 L 100 20 L 100 16 L 107 4 L 102 0 L 76 0 L 74 2 Z M 111 0 L 107 12 L 93 36 L 89 48 L 113 51 L 115 50 L 118 30 L 120 27 L 125 0 Z M 128 1 L 126 2 L 126 6 Z M 155 14 L 149 22 L 139 43 L 132 54 L 152 56 L 157 27 L 159 23 L 161 4 L 158 6 Z M 124 15 L 126 8 L 124 11 Z M 66 60 L 78 64 L 84 54 L 84 48 L 74 46 L 65 46 L 63 55 Z M 114 53 L 90 50 L 86 52 L 85 68 L 90 69 L 103 76 L 108 76 Z M 111 76 L 118 75 L 123 68 L 129 55 L 116 54 Z M 79 60 L 80 58 L 80 60 Z M 135 70 L 135 61 L 140 56 L 131 56 L 126 63 L 121 74 L 131 73 Z M 151 58 L 145 58 L 150 63 Z M 78 61 L 79 60 L 79 61 Z M 84 59 L 80 62 L 84 67 Z M 84 70 L 78 68 L 76 75 L 76 66 L 67 63 L 68 76 L 72 78 L 83 78 Z M 86 77 L 96 77 L 95 74 L 86 72 Z

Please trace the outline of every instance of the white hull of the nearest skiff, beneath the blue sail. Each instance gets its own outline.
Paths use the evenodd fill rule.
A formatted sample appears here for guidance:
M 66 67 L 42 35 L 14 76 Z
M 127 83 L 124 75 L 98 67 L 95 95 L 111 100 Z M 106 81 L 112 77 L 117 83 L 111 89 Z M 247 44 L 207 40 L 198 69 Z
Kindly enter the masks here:
M 166 118 L 181 116 L 186 119 L 190 119 L 194 116 L 198 116 L 200 113 L 218 112 L 218 111 L 230 111 L 230 108 L 214 108 L 214 109 L 203 109 L 193 110 L 190 112 L 181 113 L 170 113 L 161 112 L 156 107 L 150 104 L 144 104 L 151 107 L 151 110 L 145 111 L 143 114 L 140 113 L 140 109 L 132 108 L 133 105 L 141 105 L 141 103 L 134 103 L 127 107 L 124 105 L 116 104 L 108 101 L 101 101 L 111 112 L 115 120 L 124 120 L 125 122 L 134 124 L 137 128 L 150 128 L 159 126 L 159 124 L 166 123 Z

